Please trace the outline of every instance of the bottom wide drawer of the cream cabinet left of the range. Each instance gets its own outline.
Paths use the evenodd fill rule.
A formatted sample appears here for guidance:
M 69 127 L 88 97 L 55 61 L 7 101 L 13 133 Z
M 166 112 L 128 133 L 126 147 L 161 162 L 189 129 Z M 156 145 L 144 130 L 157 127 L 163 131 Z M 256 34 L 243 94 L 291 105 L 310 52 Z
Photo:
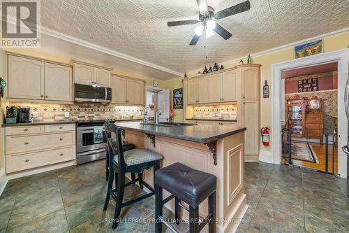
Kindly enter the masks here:
M 46 150 L 37 153 L 27 153 L 23 155 L 8 155 L 6 157 L 6 172 L 42 167 L 48 164 L 55 164 L 74 159 L 74 146 L 59 148 L 56 150 Z

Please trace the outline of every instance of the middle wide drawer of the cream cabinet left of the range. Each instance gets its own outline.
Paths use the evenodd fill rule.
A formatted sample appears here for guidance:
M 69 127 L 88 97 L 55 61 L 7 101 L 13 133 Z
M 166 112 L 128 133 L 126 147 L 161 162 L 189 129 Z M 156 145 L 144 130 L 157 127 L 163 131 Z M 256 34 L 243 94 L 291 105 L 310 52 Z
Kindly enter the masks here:
M 6 154 L 57 148 L 74 144 L 73 132 L 31 136 L 6 136 Z

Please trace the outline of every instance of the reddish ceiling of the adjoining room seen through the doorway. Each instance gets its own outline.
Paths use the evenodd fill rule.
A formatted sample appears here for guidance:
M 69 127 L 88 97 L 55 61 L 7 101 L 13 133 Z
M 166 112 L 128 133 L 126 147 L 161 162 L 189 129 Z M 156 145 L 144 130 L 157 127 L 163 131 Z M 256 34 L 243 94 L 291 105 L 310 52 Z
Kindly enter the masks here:
M 310 74 L 315 74 L 315 73 L 327 73 L 327 72 L 337 71 L 337 69 L 338 69 L 338 63 L 332 62 L 332 63 L 320 64 L 316 66 L 309 66 L 309 67 L 304 67 L 299 69 L 290 69 L 288 71 L 282 71 L 281 78 L 309 76 Z

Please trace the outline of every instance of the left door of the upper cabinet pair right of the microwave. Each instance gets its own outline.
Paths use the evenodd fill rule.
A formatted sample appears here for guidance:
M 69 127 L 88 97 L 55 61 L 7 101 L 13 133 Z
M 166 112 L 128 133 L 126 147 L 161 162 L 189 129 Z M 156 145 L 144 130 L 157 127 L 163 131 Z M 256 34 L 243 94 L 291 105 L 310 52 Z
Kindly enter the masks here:
M 117 76 L 110 78 L 110 87 L 112 87 L 112 103 L 126 104 L 127 100 L 127 79 Z

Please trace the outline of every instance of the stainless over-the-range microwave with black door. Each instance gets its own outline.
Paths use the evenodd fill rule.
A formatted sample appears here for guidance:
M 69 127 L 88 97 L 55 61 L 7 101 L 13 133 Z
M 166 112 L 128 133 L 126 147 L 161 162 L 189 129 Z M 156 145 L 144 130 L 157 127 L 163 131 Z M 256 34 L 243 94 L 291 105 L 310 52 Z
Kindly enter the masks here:
M 110 103 L 112 101 L 112 88 L 75 83 L 74 98 L 75 102 Z

